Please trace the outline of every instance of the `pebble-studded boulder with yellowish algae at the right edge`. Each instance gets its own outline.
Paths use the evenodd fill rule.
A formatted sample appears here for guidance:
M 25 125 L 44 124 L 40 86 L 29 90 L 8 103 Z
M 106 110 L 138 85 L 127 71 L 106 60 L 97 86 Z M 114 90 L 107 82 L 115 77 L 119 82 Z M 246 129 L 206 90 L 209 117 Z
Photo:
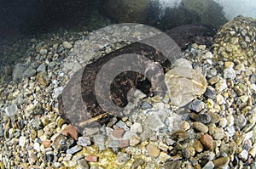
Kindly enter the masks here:
M 225 24 L 217 33 L 213 45 L 214 57 L 255 66 L 256 20 L 237 16 Z

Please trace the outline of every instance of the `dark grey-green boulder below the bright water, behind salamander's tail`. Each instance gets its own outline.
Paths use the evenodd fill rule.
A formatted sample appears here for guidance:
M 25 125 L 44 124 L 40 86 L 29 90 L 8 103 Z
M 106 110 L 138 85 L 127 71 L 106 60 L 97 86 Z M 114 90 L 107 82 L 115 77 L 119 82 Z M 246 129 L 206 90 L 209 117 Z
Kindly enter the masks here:
M 199 24 L 218 30 L 227 21 L 223 8 L 212 0 L 183 0 L 177 8 L 166 8 L 160 25 L 163 29 L 172 29 L 179 25 Z

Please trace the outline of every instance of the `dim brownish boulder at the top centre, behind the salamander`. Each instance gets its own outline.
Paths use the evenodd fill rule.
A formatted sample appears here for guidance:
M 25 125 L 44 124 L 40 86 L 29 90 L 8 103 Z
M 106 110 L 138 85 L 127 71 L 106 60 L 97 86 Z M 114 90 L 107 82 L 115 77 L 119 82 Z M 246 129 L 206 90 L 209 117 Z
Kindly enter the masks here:
M 150 0 L 107 0 L 104 13 L 119 23 L 143 23 L 147 19 Z

